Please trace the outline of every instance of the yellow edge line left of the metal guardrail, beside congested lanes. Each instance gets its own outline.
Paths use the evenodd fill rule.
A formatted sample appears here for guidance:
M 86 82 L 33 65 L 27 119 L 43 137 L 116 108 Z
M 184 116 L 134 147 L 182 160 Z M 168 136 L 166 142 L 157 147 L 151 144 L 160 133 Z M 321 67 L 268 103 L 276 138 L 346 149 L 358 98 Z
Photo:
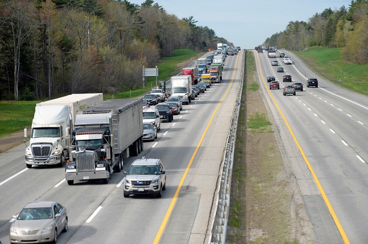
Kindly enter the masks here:
M 245 52 L 244 52 L 244 54 L 245 54 Z M 237 56 L 237 60 L 238 60 L 238 57 L 239 57 L 239 55 Z M 167 224 L 167 221 L 169 220 L 169 217 L 170 217 L 170 215 L 171 215 L 171 212 L 173 211 L 174 205 L 175 205 L 176 200 L 177 200 L 177 198 L 178 198 L 179 192 L 180 192 L 180 190 L 182 189 L 182 186 L 183 186 L 184 180 L 185 180 L 185 178 L 186 178 L 186 175 L 188 174 L 188 171 L 189 171 L 189 169 L 190 169 L 190 166 L 192 165 L 192 163 L 193 163 L 193 161 L 194 161 L 194 158 L 195 158 L 195 156 L 196 156 L 196 154 L 197 154 L 197 152 L 198 152 L 199 147 L 200 147 L 200 146 L 201 146 L 201 144 L 202 144 L 202 141 L 204 140 L 204 138 L 205 138 L 205 136 L 206 136 L 206 134 L 207 134 L 208 129 L 210 128 L 210 124 L 211 124 L 211 122 L 213 121 L 213 118 L 214 118 L 214 116 L 216 115 L 218 108 L 220 107 L 220 105 L 221 105 L 222 101 L 225 99 L 226 95 L 229 93 L 229 90 L 230 90 L 230 88 L 231 88 L 231 87 L 232 87 L 232 85 L 233 85 L 234 76 L 235 76 L 235 70 L 236 70 L 236 69 L 237 69 L 237 61 L 236 61 L 236 63 L 235 63 L 235 69 L 234 69 L 233 77 L 232 77 L 232 79 L 231 79 L 230 86 L 229 86 L 228 90 L 226 91 L 226 93 L 225 93 L 224 97 L 223 97 L 223 98 L 221 99 L 221 101 L 218 103 L 218 105 L 217 105 L 217 107 L 216 107 L 215 111 L 213 112 L 213 114 L 212 114 L 212 116 L 211 116 L 210 122 L 208 122 L 207 127 L 206 127 L 205 131 L 204 131 L 204 132 L 203 132 L 203 134 L 202 134 L 201 140 L 199 140 L 199 143 L 198 143 L 197 147 L 195 148 L 195 150 L 194 150 L 194 152 L 193 152 L 193 155 L 192 155 L 192 157 L 191 157 L 191 159 L 190 159 L 190 161 L 189 161 L 189 163 L 188 163 L 188 166 L 186 167 L 186 169 L 185 169 L 185 171 L 184 171 L 184 174 L 183 174 L 183 177 L 182 177 L 182 179 L 181 179 L 181 181 L 180 181 L 180 183 L 179 183 L 179 186 L 178 186 L 178 188 L 176 189 L 176 192 L 175 192 L 175 194 L 174 194 L 174 197 L 173 197 L 173 199 L 171 200 L 170 206 L 169 206 L 169 208 L 167 209 L 167 212 L 166 212 L 166 214 L 165 214 L 165 217 L 163 218 L 163 221 L 162 221 L 162 223 L 161 223 L 161 226 L 160 226 L 160 228 L 158 229 L 158 233 L 157 233 L 157 235 L 156 235 L 155 241 L 153 242 L 154 244 L 158 244 L 158 242 L 159 242 L 159 240 L 160 240 L 160 238 L 161 238 L 161 236 L 162 236 L 163 230 L 165 229 L 165 226 L 166 226 L 166 224 Z

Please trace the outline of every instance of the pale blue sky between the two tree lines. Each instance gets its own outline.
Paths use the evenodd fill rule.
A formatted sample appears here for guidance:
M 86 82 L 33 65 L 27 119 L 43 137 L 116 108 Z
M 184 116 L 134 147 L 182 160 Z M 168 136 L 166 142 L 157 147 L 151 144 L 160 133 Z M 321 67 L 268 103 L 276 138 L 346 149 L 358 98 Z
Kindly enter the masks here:
M 144 0 L 129 0 L 140 5 Z M 351 0 L 155 0 L 168 14 L 193 16 L 241 49 L 254 49 L 290 21 L 305 21 L 324 9 L 349 7 Z M 280 47 L 279 47 L 280 48 Z

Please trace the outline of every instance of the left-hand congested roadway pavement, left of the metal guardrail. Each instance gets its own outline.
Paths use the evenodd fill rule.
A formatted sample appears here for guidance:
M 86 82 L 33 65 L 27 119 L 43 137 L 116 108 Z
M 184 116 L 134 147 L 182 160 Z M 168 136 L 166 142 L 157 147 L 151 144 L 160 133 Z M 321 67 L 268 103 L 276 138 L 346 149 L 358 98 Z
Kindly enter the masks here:
M 173 122 L 162 122 L 156 142 L 145 142 L 137 157 L 160 158 L 167 174 L 162 198 L 123 197 L 124 173 L 108 184 L 80 181 L 69 186 L 64 168 L 26 169 L 25 146 L 0 155 L 0 240 L 28 202 L 52 200 L 68 211 L 68 232 L 58 243 L 204 243 L 212 224 L 214 198 L 233 115 L 244 51 L 227 58 L 221 83 L 188 105 Z M 368 123 L 368 122 L 367 122 Z

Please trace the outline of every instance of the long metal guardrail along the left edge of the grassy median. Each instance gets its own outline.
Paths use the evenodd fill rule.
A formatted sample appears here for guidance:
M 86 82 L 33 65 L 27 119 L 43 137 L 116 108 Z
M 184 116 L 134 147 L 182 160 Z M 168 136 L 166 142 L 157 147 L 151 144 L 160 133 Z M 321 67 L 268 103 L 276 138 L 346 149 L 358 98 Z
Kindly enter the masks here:
M 233 118 L 229 130 L 227 139 L 227 146 L 225 157 L 222 162 L 221 178 L 219 178 L 218 184 L 220 187 L 217 192 L 216 212 L 214 213 L 211 235 L 209 239 L 210 244 L 225 244 L 226 242 L 226 229 L 229 218 L 230 209 L 230 190 L 231 190 L 231 178 L 233 173 L 234 163 L 234 150 L 237 136 L 237 121 L 239 118 L 240 100 L 243 87 L 244 78 L 244 59 L 242 60 L 240 89 L 237 93 L 237 101 L 233 111 Z

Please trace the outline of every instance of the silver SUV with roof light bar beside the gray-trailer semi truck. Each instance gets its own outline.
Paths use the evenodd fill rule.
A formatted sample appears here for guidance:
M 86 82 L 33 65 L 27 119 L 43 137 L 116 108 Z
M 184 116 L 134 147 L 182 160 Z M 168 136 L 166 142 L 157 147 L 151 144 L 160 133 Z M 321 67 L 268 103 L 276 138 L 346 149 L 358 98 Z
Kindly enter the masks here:
M 162 162 L 156 158 L 136 159 L 123 179 L 124 197 L 131 194 L 162 196 L 166 190 L 166 173 Z

